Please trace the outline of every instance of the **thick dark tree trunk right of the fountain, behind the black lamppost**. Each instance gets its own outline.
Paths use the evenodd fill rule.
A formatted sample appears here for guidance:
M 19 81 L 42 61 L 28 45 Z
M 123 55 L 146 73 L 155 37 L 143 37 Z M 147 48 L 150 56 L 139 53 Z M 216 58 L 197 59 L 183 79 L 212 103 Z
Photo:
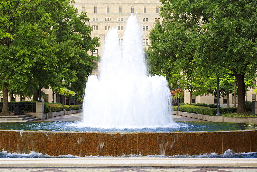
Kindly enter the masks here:
M 245 113 L 245 83 L 244 74 L 236 74 L 237 80 L 237 110 L 236 113 Z

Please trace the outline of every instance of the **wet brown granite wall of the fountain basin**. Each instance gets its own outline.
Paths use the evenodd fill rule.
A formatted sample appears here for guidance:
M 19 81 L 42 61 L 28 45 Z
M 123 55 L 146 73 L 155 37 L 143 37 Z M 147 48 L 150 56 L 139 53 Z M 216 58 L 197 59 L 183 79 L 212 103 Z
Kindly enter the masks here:
M 213 152 L 222 154 L 228 149 L 234 152 L 256 152 L 256 132 L 83 133 L 0 130 L 0 148 L 12 153 L 38 151 L 51 156 L 172 156 Z

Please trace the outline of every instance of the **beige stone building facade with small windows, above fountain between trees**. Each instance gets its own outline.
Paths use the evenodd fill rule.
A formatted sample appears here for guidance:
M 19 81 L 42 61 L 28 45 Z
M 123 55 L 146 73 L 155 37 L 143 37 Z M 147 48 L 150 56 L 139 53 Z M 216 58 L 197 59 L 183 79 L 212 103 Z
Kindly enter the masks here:
M 156 0 L 151 1 L 135 1 L 135 0 L 75 0 L 74 7 L 81 13 L 87 12 L 87 16 L 90 18 L 90 26 L 92 27 L 91 36 L 100 38 L 100 47 L 96 47 L 93 55 L 102 56 L 102 50 L 104 46 L 104 40 L 108 30 L 113 27 L 118 28 L 118 37 L 120 40 L 120 49 L 122 53 L 123 49 L 123 33 L 126 29 L 126 22 L 130 15 L 137 16 L 140 27 L 142 29 L 142 45 L 147 48 L 150 44 L 148 39 L 149 31 L 154 27 L 157 21 L 161 22 L 159 16 L 159 6 L 161 3 Z M 101 66 L 98 62 L 98 67 L 93 71 L 94 74 L 98 74 L 101 70 Z

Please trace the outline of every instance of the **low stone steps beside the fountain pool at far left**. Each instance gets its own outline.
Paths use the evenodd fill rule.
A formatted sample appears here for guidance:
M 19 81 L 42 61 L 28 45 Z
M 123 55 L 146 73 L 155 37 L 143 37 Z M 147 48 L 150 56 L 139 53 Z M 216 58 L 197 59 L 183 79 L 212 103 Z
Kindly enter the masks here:
M 0 116 L 0 122 L 31 122 L 38 120 L 40 120 L 40 118 L 36 118 L 32 115 Z

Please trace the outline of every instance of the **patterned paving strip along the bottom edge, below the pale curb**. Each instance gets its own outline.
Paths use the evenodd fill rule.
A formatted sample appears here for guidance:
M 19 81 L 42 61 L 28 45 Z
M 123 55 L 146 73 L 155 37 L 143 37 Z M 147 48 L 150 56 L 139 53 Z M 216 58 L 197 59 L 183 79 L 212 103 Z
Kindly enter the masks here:
M 119 167 L 119 168 L 108 168 L 108 167 L 27 167 L 27 168 L 3 168 L 0 167 L 0 171 L 103 171 L 103 172 L 109 172 L 109 171 L 115 171 L 115 172 L 144 172 L 144 171 L 150 171 L 150 172 L 158 172 L 158 171 L 169 171 L 169 172 L 175 172 L 175 171 L 185 171 L 185 172 L 191 172 L 191 171 L 197 171 L 197 172 L 205 172 L 205 171 L 257 171 L 256 167 Z

